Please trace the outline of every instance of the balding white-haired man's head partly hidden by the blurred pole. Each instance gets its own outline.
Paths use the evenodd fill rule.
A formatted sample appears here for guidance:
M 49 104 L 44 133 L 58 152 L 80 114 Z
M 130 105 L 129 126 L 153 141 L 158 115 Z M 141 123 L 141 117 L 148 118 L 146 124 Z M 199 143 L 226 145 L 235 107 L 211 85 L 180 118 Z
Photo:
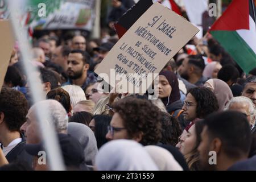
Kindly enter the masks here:
M 36 109 L 49 115 L 50 125 L 57 133 L 67 133 L 68 115 L 64 107 L 56 100 L 44 100 L 34 104 L 27 113 L 27 121 L 20 127 L 24 132 L 27 143 L 39 143 L 41 140 Z

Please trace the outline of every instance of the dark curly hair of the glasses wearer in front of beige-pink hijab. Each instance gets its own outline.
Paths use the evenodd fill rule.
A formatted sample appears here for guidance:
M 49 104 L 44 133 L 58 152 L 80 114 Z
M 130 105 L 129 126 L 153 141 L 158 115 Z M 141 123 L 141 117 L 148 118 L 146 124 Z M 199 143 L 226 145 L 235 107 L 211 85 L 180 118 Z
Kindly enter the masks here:
M 188 93 L 192 94 L 197 102 L 197 118 L 205 118 L 208 114 L 218 110 L 218 100 L 210 89 L 196 87 L 190 89 Z

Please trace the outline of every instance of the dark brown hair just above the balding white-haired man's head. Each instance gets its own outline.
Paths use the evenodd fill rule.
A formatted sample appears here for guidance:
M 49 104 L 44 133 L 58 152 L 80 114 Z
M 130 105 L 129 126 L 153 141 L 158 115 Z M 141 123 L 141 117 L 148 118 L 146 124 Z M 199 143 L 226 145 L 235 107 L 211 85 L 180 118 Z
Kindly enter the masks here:
M 69 94 L 63 88 L 52 89 L 47 93 L 46 98 L 60 102 L 60 104 L 63 105 L 67 113 L 71 111 L 71 102 Z

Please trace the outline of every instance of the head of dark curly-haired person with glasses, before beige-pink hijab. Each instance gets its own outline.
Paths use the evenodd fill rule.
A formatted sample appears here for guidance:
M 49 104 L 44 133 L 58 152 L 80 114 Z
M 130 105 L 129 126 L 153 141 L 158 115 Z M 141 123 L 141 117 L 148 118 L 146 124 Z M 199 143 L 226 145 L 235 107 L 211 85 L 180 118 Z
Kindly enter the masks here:
M 196 118 L 203 119 L 217 111 L 218 101 L 214 93 L 208 88 L 196 87 L 188 91 L 182 109 L 184 110 L 184 119 L 194 121 Z

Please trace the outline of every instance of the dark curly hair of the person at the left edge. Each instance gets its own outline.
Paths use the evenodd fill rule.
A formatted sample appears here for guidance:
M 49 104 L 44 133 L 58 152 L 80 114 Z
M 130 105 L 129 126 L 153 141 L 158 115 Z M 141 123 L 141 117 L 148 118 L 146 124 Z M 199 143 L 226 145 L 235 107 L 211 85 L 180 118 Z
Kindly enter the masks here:
M 3 87 L 0 93 L 0 113 L 5 114 L 3 121 L 10 131 L 19 131 L 26 122 L 28 103 L 23 93 Z

